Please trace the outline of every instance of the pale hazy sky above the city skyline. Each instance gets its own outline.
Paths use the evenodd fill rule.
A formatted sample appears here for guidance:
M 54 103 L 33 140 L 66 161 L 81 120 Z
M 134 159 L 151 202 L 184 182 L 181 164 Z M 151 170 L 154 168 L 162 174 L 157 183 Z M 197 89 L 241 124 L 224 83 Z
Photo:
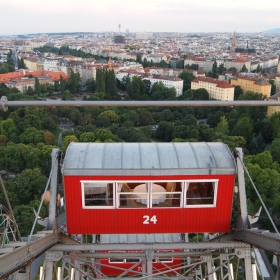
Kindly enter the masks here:
M 261 32 L 280 28 L 279 0 L 0 0 L 0 34 Z

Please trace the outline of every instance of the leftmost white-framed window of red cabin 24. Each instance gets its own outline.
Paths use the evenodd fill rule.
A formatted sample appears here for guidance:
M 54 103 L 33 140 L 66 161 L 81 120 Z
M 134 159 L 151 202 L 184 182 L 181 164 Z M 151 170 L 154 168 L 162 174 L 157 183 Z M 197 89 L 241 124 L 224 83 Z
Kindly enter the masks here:
M 114 183 L 81 181 L 83 208 L 114 207 Z

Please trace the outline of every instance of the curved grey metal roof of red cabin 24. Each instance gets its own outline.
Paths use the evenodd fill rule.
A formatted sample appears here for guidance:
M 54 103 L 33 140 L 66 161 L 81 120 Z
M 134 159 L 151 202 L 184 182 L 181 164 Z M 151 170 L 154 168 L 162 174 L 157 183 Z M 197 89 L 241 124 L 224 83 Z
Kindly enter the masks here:
M 66 151 L 64 175 L 235 174 L 223 143 L 75 143 Z

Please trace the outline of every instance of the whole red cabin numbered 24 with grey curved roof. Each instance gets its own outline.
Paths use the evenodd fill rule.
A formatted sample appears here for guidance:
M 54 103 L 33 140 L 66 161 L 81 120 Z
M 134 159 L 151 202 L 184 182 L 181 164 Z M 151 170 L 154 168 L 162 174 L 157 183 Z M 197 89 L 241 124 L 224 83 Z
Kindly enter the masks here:
M 223 143 L 71 143 L 70 234 L 228 232 L 235 160 Z

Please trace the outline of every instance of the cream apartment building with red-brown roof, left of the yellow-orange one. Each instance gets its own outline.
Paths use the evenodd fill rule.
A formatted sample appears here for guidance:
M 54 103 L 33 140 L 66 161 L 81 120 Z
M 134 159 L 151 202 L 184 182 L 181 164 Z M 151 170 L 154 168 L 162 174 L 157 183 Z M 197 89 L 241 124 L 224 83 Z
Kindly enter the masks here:
M 234 100 L 234 87 L 228 81 L 198 77 L 191 82 L 191 89 L 199 88 L 206 89 L 210 98 L 223 101 Z

